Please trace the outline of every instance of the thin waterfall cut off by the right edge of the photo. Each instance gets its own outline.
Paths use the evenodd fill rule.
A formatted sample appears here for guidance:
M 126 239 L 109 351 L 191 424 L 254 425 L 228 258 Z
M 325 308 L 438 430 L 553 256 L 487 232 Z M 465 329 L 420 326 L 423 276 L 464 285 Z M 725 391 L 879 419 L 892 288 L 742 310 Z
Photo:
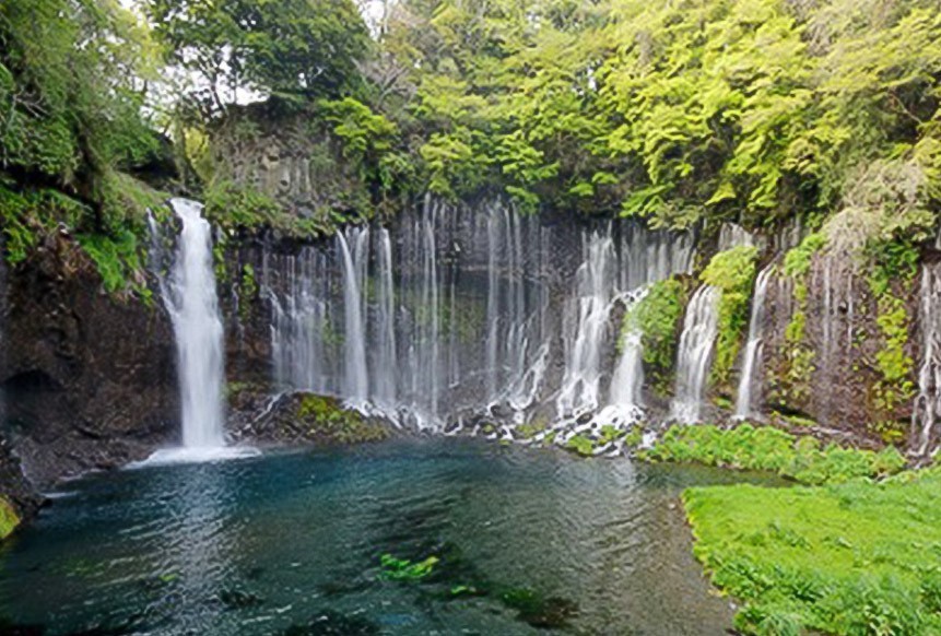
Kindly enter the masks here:
M 924 456 L 929 452 L 934 425 L 941 417 L 941 263 L 922 269 L 920 295 L 921 367 L 911 424 L 917 452 Z

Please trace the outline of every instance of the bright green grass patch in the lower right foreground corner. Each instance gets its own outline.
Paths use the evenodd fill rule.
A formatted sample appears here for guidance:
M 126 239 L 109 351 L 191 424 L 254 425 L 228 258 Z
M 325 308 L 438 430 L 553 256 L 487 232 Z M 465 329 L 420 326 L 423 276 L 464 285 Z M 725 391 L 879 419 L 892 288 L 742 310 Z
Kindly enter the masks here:
M 746 634 L 941 633 L 941 475 L 686 491 L 695 554 Z

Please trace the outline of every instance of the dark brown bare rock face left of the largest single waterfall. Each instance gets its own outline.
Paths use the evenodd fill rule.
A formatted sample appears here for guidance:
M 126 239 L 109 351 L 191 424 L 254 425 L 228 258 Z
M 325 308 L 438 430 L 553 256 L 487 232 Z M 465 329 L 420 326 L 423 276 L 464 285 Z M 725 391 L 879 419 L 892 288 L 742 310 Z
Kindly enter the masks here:
M 8 284 L 0 386 L 7 434 L 32 481 L 118 466 L 178 435 L 173 333 L 158 301 L 105 295 L 63 236 Z

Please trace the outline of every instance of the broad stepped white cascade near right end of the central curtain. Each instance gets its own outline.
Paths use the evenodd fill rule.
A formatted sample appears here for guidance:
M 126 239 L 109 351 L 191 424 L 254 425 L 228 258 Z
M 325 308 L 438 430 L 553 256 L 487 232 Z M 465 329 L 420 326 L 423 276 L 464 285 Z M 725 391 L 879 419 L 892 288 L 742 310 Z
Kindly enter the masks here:
M 585 260 L 575 274 L 575 294 L 563 314 L 565 375 L 556 400 L 560 417 L 578 417 L 599 407 L 601 355 L 613 290 L 611 232 L 585 240 Z

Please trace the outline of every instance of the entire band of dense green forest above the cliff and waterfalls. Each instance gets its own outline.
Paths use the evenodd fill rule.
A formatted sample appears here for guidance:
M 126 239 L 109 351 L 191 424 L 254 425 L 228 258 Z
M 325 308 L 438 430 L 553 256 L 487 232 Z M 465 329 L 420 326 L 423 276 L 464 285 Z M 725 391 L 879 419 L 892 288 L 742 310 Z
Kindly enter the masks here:
M 349 0 L 4 3 L 8 258 L 60 223 L 129 257 L 144 182 L 168 167 L 158 188 L 200 193 L 227 224 L 271 224 L 274 202 L 214 170 L 213 137 L 250 125 L 248 101 L 304 114 L 356 166 L 362 192 L 327 219 L 393 214 L 426 191 L 498 193 L 672 228 L 800 217 L 877 257 L 933 227 L 937 2 L 381 9 L 367 25 Z

